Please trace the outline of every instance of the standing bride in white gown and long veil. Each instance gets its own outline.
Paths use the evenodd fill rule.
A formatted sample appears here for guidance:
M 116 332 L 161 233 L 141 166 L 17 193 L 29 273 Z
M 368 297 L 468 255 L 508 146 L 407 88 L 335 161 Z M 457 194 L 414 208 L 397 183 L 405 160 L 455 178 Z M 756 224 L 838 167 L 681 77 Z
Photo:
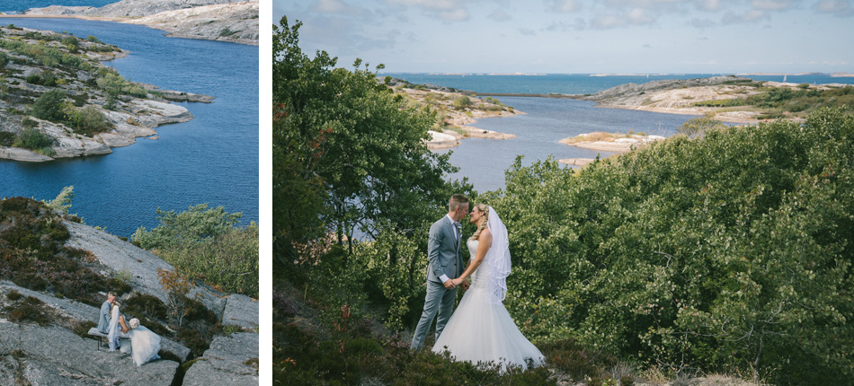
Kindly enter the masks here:
M 454 285 L 467 276 L 472 276 L 472 284 L 432 351 L 447 349 L 457 360 L 474 364 L 494 361 L 502 371 L 508 365 L 544 364 L 543 354 L 522 336 L 502 303 L 511 266 L 507 228 L 494 208 L 485 204 L 472 208 L 469 222 L 477 225 L 467 241 L 471 259 Z

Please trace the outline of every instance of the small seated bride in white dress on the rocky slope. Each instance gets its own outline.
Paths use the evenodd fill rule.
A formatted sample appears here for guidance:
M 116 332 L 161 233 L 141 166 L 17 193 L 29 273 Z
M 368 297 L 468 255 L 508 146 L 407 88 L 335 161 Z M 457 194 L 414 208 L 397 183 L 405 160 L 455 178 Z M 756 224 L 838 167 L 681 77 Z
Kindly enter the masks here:
M 136 318 L 126 323 L 124 315 L 119 311 L 119 306 L 118 302 L 112 305 L 110 333 L 107 335 L 110 351 L 120 347 L 122 353 L 130 354 L 137 367 L 160 358 L 160 355 L 157 355 L 160 351 L 160 336 L 139 325 L 139 320 Z M 125 342 L 121 344 L 120 339 Z M 128 339 L 130 344 L 127 343 Z

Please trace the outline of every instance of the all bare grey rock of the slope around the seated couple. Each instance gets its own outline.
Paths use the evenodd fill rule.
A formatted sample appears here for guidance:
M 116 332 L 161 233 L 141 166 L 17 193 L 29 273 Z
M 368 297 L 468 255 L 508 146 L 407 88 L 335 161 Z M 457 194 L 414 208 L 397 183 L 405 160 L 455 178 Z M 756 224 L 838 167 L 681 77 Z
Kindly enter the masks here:
M 135 293 L 166 300 L 157 270 L 171 270 L 172 265 L 102 230 L 69 221 L 62 224 L 69 234 L 65 246 L 91 252 L 91 264 L 101 267 L 102 276 L 123 273 Z M 38 299 L 40 307 L 49 310 L 49 323 L 38 326 L 10 321 L 8 316 L 3 319 L 14 303 L 13 292 L 18 298 Z M 204 285 L 192 289 L 191 297 L 196 294 L 222 325 L 244 332 L 214 338 L 184 375 L 173 361 L 192 359 L 191 350 L 182 343 L 161 337 L 162 352 L 174 356 L 137 367 L 130 355 L 99 349 L 95 340 L 71 330 L 78 322 L 95 322 L 98 308 L 0 281 L 0 384 L 165 386 L 176 384 L 176 377 L 182 375 L 183 384 L 258 384 L 258 302 L 242 294 L 220 294 Z

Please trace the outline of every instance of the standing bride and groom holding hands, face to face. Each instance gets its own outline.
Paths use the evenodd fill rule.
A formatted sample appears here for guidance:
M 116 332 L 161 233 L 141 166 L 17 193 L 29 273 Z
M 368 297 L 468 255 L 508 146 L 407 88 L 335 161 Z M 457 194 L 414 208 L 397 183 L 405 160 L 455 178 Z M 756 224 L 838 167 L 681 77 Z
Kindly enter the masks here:
M 494 208 L 485 204 L 472 206 L 469 214 L 468 198 L 463 195 L 451 196 L 448 208 L 448 215 L 430 227 L 427 296 L 411 348 L 423 347 L 436 318 L 433 352 L 448 350 L 457 360 L 474 364 L 494 361 L 503 371 L 508 365 L 542 365 L 542 353 L 522 336 L 502 303 L 511 269 L 507 228 Z M 459 221 L 467 215 L 477 229 L 466 241 L 470 259 L 464 266 Z M 457 287 L 466 294 L 454 311 Z

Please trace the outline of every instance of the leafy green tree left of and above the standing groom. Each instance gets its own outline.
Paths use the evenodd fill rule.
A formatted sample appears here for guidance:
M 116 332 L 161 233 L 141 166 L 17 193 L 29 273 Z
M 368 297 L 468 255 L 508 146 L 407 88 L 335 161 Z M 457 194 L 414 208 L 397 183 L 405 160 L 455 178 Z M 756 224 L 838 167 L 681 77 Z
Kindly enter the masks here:
M 339 241 L 357 229 L 411 231 L 437 216 L 451 189 L 442 176 L 455 170 L 423 145 L 430 110 L 408 106 L 360 60 L 350 71 L 325 51 L 309 59 L 300 25 L 285 17 L 273 27 L 273 221 L 284 261 L 293 242 L 326 227 Z

